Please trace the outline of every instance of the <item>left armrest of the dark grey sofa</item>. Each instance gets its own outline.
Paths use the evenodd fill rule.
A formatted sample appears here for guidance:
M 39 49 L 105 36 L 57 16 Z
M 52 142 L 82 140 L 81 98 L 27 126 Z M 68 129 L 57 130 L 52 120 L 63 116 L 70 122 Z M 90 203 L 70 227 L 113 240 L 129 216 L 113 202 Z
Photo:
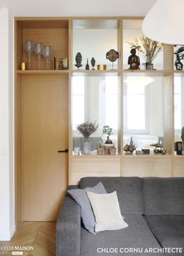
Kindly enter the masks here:
M 79 256 L 80 233 L 80 205 L 66 193 L 56 222 L 56 256 Z

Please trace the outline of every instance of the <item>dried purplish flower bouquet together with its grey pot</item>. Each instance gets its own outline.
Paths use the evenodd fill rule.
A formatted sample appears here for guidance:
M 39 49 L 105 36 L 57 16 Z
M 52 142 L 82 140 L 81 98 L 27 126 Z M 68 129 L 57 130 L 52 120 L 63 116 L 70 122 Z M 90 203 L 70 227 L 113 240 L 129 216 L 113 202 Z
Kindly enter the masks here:
M 76 129 L 80 131 L 80 133 L 83 135 L 84 140 L 82 144 L 82 150 L 83 154 L 89 154 L 91 150 L 91 140 L 89 140 L 89 137 L 92 133 L 94 133 L 97 130 L 98 125 L 96 123 L 91 122 L 84 122 L 81 124 L 78 124 L 76 126 Z

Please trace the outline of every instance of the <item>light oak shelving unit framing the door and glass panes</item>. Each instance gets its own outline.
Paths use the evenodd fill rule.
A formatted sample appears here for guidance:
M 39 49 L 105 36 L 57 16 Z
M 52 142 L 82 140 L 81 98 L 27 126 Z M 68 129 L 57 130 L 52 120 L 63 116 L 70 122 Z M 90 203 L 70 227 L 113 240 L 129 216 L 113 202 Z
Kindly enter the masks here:
M 184 157 L 175 156 L 174 151 L 174 76 L 183 76 L 184 72 L 174 70 L 173 47 L 164 45 L 163 69 L 125 70 L 123 66 L 123 22 L 142 20 L 140 17 L 95 17 L 95 18 L 16 18 L 16 186 L 21 187 L 21 86 L 26 76 L 65 77 L 69 86 L 69 184 L 76 184 L 83 176 L 184 176 Z M 111 29 L 117 30 L 117 51 L 119 52 L 116 70 L 77 70 L 73 68 L 73 30 Z M 30 37 L 31 35 L 31 37 Z M 25 41 L 41 41 L 51 44 L 56 57 L 69 58 L 69 70 L 37 70 L 37 59 L 33 56 L 32 70 L 21 71 L 20 62 L 27 62 L 27 53 L 23 50 Z M 76 55 L 76 52 L 74 52 Z M 97 63 L 101 64 L 101 63 Z M 84 61 L 83 61 L 84 66 Z M 73 155 L 72 97 L 73 76 L 118 76 L 119 77 L 119 132 L 118 155 Z M 127 76 L 151 76 L 163 78 L 164 87 L 164 131 L 167 155 L 124 155 L 123 153 L 123 80 Z M 17 196 L 21 204 L 20 194 Z M 19 216 L 20 219 L 20 216 Z

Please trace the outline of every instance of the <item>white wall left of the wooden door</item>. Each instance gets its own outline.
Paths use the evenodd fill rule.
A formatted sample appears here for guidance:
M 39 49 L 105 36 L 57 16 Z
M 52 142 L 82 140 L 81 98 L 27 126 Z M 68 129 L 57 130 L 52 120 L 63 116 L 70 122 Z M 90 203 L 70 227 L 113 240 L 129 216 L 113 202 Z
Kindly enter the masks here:
M 0 240 L 9 240 L 15 230 L 13 171 L 12 30 L 8 9 L 0 9 Z M 11 74 L 9 76 L 9 74 Z

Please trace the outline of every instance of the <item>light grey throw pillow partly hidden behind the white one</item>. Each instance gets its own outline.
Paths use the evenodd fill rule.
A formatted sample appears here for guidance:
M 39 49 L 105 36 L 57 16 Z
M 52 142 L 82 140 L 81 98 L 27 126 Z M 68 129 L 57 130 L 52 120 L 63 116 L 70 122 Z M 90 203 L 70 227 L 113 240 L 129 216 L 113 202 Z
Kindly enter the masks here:
M 91 208 L 90 201 L 87 197 L 87 192 L 93 192 L 96 194 L 107 194 L 104 189 L 103 184 L 100 182 L 94 187 L 87 187 L 83 190 L 68 190 L 69 194 L 73 197 L 73 199 L 80 204 L 81 208 L 81 217 L 83 219 L 83 225 L 90 233 L 95 233 L 95 219 L 94 212 Z

